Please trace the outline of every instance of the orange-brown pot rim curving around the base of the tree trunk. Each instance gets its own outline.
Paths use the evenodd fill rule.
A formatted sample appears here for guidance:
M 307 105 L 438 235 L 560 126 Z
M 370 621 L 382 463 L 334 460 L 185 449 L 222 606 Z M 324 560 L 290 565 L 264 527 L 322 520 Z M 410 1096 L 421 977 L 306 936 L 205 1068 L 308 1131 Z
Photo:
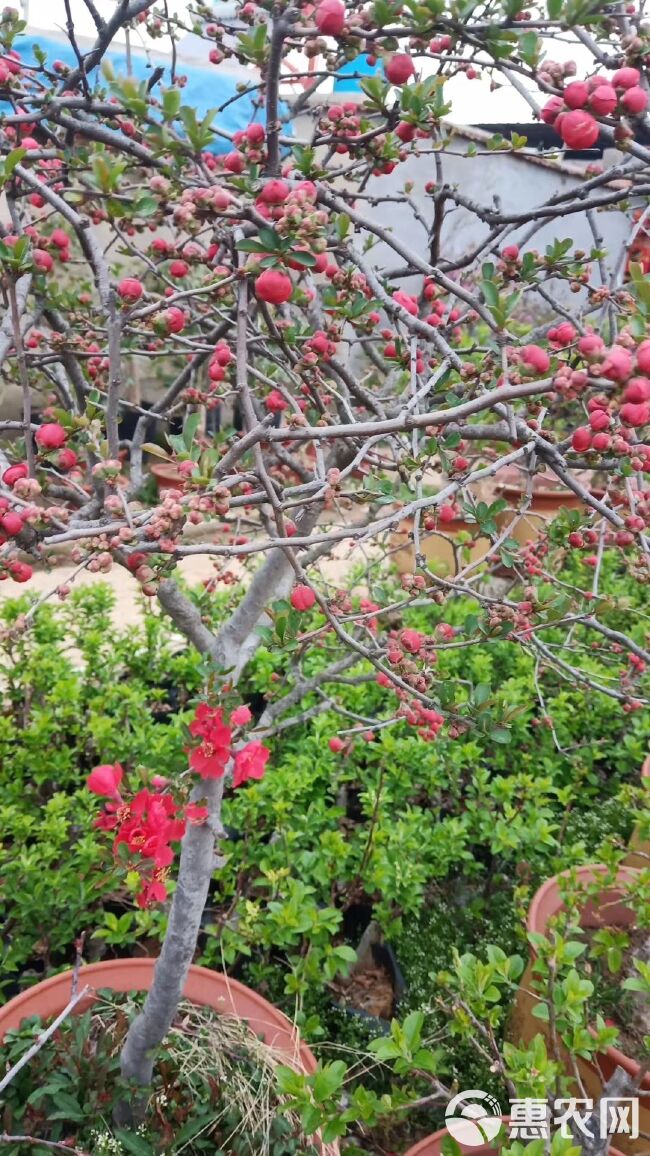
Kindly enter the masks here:
M 88 1008 L 96 999 L 94 993 L 102 988 L 124 993 L 148 992 L 154 978 L 155 963 L 155 959 L 109 959 L 105 963 L 90 963 L 86 968 L 80 968 L 79 990 L 88 985 L 93 991 L 80 1000 L 75 1011 Z M 28 987 L 9 1000 L 3 1008 L 0 1008 L 0 1043 L 6 1031 L 19 1028 L 28 1016 L 38 1015 L 43 1020 L 51 1020 L 59 1015 L 71 1001 L 72 981 L 73 972 L 64 971 L 43 980 L 42 984 Z M 301 1072 L 310 1075 L 316 1070 L 312 1052 L 301 1042 L 287 1017 L 272 1003 L 267 1003 L 261 995 L 250 987 L 244 987 L 236 979 L 229 979 L 228 976 L 210 971 L 209 968 L 192 964 L 183 994 L 192 1003 L 245 1020 L 251 1031 L 263 1036 L 271 1047 L 283 1052 L 287 1060 L 295 1064 Z

